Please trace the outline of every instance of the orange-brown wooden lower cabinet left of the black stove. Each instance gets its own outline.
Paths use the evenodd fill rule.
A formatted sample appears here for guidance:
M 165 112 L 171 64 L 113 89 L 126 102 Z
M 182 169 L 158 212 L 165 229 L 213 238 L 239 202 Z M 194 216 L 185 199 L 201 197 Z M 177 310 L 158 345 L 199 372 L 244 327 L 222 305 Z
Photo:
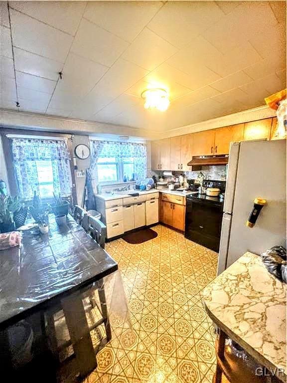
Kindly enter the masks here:
M 177 230 L 184 231 L 185 206 L 160 200 L 160 221 Z

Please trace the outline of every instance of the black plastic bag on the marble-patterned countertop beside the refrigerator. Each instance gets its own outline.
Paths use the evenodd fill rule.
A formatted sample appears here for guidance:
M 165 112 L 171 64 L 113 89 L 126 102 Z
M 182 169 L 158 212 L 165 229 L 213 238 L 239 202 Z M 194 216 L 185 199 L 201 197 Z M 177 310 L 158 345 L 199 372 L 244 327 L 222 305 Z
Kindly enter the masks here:
M 286 283 L 287 280 L 287 256 L 286 248 L 273 246 L 261 254 L 267 270 L 275 277 Z

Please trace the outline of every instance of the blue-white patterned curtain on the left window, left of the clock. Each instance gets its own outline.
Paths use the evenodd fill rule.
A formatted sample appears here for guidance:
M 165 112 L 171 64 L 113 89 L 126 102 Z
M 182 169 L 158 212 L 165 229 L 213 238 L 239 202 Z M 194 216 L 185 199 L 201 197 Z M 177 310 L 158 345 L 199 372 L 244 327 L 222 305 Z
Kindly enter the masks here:
M 32 198 L 34 191 L 39 194 L 36 161 L 41 160 L 52 162 L 54 192 L 71 195 L 70 155 L 65 141 L 15 138 L 12 156 L 20 197 Z

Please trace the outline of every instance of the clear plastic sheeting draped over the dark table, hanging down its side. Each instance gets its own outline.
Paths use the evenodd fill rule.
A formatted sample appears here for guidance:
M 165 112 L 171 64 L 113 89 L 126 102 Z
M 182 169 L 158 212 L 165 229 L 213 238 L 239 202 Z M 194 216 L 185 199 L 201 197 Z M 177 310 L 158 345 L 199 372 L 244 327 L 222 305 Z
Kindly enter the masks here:
M 6 368 L 17 370 L 40 355 L 47 361 L 49 355 L 58 380 L 70 382 L 96 368 L 97 350 L 131 327 L 117 269 L 71 218 L 59 227 L 50 216 L 49 234 L 25 231 L 20 248 L 0 251 L 0 351 Z M 75 364 L 65 370 L 63 361 L 71 355 Z

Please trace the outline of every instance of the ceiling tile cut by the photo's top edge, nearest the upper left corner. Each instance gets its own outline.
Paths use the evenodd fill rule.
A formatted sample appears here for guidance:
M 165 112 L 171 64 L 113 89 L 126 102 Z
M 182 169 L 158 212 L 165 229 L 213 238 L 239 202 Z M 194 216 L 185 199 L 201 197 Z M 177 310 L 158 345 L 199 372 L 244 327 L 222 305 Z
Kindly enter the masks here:
M 86 1 L 11 1 L 11 7 L 75 35 Z

